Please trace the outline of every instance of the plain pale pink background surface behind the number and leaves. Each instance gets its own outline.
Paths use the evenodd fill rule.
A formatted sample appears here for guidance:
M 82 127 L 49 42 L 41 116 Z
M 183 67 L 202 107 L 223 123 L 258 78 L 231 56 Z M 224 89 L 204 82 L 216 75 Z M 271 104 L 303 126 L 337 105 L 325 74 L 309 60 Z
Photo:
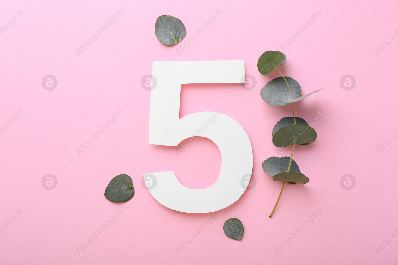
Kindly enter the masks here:
M 138 1 L 23 0 L 3 2 L 0 26 L 23 12 L 0 36 L 0 126 L 22 110 L 17 123 L 0 135 L 0 224 L 18 209 L 23 214 L 0 235 L 1 264 L 396 264 L 398 239 L 377 255 L 375 248 L 398 236 L 396 165 L 398 140 L 376 154 L 375 148 L 398 131 L 396 118 L 397 41 L 375 53 L 394 33 L 398 4 L 375 0 L 302 1 Z M 123 15 L 83 54 L 76 49 L 96 34 L 118 10 Z M 182 54 L 154 34 L 159 15 L 181 19 L 184 41 L 216 14 L 222 15 Z M 322 12 L 286 50 L 279 69 L 300 83 L 303 94 L 322 91 L 295 103 L 317 140 L 298 146 L 293 158 L 310 178 L 287 185 L 272 218 L 268 215 L 281 182 L 261 162 L 277 156 L 271 131 L 291 108 L 272 107 L 260 90 L 277 72 L 263 76 L 257 60 L 291 38 L 317 10 Z M 184 42 L 183 41 L 183 42 Z M 170 210 L 142 188 L 143 173 L 174 170 L 189 188 L 211 186 L 220 171 L 215 144 L 199 139 L 178 156 L 176 147 L 148 144 L 150 92 L 141 78 L 153 60 L 244 60 L 257 86 L 184 85 L 181 117 L 217 111 L 234 118 L 248 133 L 254 151 L 257 185 L 222 214 L 203 234 L 195 229 L 210 213 Z M 55 75 L 47 91 L 41 79 Z M 341 88 L 343 75 L 357 85 Z M 131 101 L 134 98 L 133 101 Z M 80 156 L 88 140 L 117 110 L 123 114 Z M 213 145 L 213 147 L 211 146 Z M 281 156 L 288 156 L 290 148 Z M 112 203 L 103 193 L 118 174 L 135 185 L 133 199 Z M 45 174 L 58 186 L 46 190 Z M 352 174 L 352 190 L 340 178 Z M 76 248 L 117 211 L 123 213 L 84 252 Z M 317 209 L 322 214 L 298 235 L 295 229 Z M 241 241 L 224 235 L 226 219 L 244 225 Z M 198 238 L 182 253 L 176 248 L 193 233 Z M 283 252 L 276 248 L 295 233 Z M 97 233 L 98 234 L 98 233 Z

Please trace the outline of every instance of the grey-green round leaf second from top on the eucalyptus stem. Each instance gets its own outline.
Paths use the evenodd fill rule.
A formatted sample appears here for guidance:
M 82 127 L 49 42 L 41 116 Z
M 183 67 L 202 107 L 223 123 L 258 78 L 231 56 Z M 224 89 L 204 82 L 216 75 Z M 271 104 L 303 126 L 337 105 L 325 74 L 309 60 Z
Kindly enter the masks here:
M 290 87 L 286 85 L 285 79 Z M 297 81 L 290 77 L 277 77 L 269 81 L 260 92 L 261 98 L 268 104 L 276 107 L 285 106 L 291 99 L 297 99 L 301 96 L 301 87 Z

